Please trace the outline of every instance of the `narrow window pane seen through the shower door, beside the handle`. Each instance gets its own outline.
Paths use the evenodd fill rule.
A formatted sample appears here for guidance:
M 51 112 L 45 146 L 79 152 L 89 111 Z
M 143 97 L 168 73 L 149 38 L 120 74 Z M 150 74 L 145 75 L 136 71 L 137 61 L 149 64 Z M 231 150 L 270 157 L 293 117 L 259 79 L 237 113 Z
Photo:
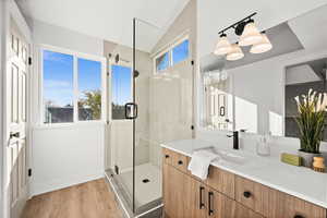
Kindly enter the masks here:
M 125 119 L 124 106 L 132 101 L 132 71 L 123 65 L 111 66 L 112 119 Z

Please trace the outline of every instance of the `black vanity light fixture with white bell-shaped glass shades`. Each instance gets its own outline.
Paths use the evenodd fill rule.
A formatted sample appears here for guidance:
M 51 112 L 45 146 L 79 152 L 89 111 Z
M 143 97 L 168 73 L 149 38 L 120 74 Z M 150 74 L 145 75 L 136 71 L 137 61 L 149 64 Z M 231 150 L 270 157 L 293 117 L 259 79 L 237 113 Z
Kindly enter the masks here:
M 250 14 L 245 19 L 223 28 L 218 34 L 220 35 L 214 53 L 216 56 L 225 56 L 230 61 L 240 60 L 244 53 L 240 46 L 252 46 L 251 53 L 263 53 L 272 48 L 270 40 L 264 32 L 259 32 L 252 19 L 256 13 Z M 235 35 L 240 39 L 235 44 L 230 44 L 227 38 L 226 32 L 230 28 L 234 29 Z

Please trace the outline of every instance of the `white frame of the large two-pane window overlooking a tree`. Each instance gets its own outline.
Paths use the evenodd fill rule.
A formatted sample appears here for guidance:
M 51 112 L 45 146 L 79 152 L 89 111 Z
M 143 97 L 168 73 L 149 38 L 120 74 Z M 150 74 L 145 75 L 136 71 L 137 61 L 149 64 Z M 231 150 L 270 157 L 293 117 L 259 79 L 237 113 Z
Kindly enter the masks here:
M 73 122 L 62 122 L 62 123 L 44 123 L 45 121 L 45 108 L 44 108 L 44 51 L 51 51 L 58 53 L 64 53 L 73 57 Z M 48 46 L 48 45 L 39 45 L 38 46 L 38 68 L 39 68 L 39 87 L 38 87 L 38 98 L 39 98 L 39 124 L 43 126 L 70 126 L 74 124 L 87 124 L 87 123 L 105 123 L 107 120 L 107 73 L 106 73 L 106 63 L 107 60 L 105 57 L 83 53 L 78 51 L 73 51 L 70 49 Z M 97 61 L 101 64 L 101 118 L 99 120 L 78 120 L 78 98 L 80 98 L 80 89 L 78 89 L 78 59 L 86 59 L 89 61 Z

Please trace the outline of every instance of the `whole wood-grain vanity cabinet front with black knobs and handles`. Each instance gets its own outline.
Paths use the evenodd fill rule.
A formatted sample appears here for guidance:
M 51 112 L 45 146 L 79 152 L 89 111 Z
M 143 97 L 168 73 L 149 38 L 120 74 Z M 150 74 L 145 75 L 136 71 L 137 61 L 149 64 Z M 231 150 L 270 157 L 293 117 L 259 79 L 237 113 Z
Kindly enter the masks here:
M 187 171 L 189 157 L 162 153 L 166 218 L 327 218 L 323 207 L 217 167 L 201 181 Z

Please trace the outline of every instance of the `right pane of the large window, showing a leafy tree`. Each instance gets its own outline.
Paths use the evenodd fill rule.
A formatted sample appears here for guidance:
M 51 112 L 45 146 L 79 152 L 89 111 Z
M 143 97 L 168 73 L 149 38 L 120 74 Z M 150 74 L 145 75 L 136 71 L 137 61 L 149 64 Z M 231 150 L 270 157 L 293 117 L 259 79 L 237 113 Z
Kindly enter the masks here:
M 101 62 L 78 59 L 78 120 L 101 118 Z

